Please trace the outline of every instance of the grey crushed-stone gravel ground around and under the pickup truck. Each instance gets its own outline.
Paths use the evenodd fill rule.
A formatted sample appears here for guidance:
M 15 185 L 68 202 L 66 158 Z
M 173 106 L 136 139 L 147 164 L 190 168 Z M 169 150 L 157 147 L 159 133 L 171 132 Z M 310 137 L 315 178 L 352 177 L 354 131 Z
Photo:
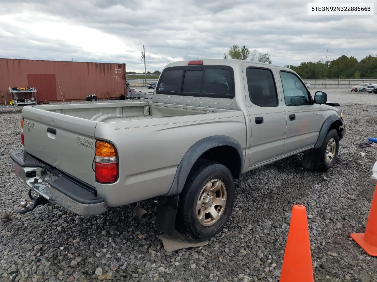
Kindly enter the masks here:
M 315 89 L 311 89 L 314 94 Z M 319 89 L 320 90 L 320 89 Z M 9 153 L 0 153 L 0 205 L 11 221 L 0 222 L 1 281 L 278 281 L 289 214 L 307 207 L 316 281 L 377 281 L 377 259 L 349 238 L 364 232 L 375 181 L 377 150 L 356 143 L 377 136 L 377 95 L 325 89 L 340 102 L 348 133 L 338 161 L 326 173 L 300 166 L 301 155 L 251 171 L 236 181 L 236 200 L 225 229 L 205 247 L 167 253 L 153 227 L 156 199 L 140 222 L 128 206 L 80 217 L 39 206 L 16 212 L 27 189 L 14 174 Z M 0 114 L 0 152 L 19 130 L 20 113 Z

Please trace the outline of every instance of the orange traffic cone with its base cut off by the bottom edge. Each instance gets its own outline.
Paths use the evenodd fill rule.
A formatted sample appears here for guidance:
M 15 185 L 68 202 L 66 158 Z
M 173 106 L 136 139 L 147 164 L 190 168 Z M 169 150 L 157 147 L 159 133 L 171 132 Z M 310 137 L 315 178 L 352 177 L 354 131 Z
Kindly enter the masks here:
M 314 282 L 306 208 L 294 205 L 280 282 Z

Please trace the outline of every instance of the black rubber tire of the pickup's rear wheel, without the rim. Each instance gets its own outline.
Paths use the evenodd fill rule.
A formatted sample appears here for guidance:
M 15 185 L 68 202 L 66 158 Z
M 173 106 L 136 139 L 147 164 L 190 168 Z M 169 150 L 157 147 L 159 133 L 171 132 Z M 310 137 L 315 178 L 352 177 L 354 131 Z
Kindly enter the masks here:
M 221 180 L 221 182 L 224 183 L 226 190 L 225 205 L 223 206 L 221 215 L 217 221 L 210 226 L 203 226 L 199 222 L 199 212 L 196 209 L 196 206 L 199 195 L 207 196 L 206 193 L 202 193 L 204 186 L 211 180 L 215 179 Z M 217 209 L 221 210 L 221 207 L 214 205 L 214 203 L 213 208 L 217 207 Z M 198 161 L 192 168 L 184 189 L 181 194 L 179 194 L 176 229 L 181 235 L 189 240 L 208 240 L 218 234 L 225 226 L 233 209 L 233 203 L 234 181 L 228 168 L 218 162 L 204 160 Z M 205 217 L 206 215 L 204 214 L 204 218 Z

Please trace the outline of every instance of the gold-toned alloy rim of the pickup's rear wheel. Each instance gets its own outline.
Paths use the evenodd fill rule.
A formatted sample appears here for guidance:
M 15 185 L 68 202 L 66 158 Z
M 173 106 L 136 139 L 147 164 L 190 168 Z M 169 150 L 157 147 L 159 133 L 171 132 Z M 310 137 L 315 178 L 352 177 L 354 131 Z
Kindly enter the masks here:
M 227 190 L 219 179 L 208 181 L 199 193 L 196 202 L 196 216 L 203 226 L 215 224 L 224 212 Z

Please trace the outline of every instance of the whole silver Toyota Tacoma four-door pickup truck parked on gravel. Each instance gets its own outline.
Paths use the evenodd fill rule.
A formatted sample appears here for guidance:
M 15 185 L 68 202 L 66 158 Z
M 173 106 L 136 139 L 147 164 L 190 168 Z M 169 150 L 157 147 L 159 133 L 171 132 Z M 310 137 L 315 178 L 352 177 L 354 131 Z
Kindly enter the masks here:
M 158 197 L 155 226 L 192 240 L 215 236 L 234 202 L 234 179 L 288 156 L 328 170 L 345 135 L 339 104 L 312 96 L 292 70 L 232 59 L 180 61 L 151 102 L 28 106 L 23 150 L 11 153 L 30 201 L 78 215 Z

